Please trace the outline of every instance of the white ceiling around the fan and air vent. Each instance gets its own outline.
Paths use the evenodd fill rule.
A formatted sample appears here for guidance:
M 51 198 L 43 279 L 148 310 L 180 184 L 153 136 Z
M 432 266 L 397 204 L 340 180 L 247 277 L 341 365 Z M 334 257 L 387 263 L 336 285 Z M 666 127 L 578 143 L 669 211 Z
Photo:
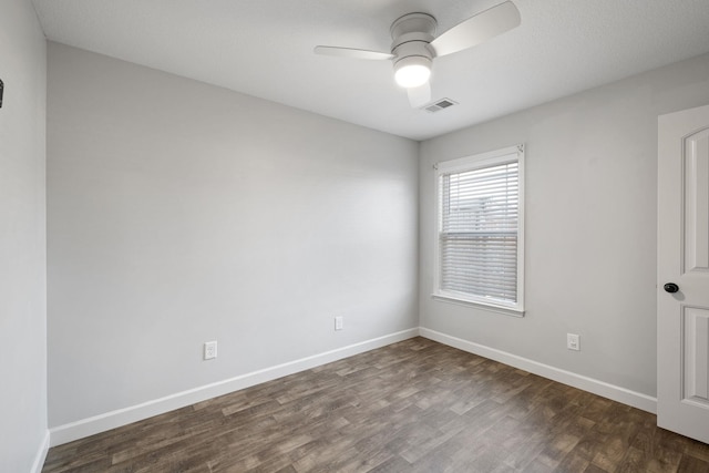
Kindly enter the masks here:
M 48 39 L 413 140 L 425 140 L 709 52 L 709 0 L 513 0 L 522 25 L 439 58 L 412 110 L 389 61 L 316 55 L 317 44 L 389 51 L 402 14 L 439 33 L 502 0 L 33 0 Z

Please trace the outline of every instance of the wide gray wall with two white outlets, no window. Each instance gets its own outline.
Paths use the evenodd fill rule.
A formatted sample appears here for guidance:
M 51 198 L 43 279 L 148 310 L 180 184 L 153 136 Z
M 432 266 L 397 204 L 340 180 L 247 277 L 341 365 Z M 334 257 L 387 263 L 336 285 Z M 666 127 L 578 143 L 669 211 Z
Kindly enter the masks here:
M 51 426 L 419 323 L 415 142 L 50 43 L 48 150 Z

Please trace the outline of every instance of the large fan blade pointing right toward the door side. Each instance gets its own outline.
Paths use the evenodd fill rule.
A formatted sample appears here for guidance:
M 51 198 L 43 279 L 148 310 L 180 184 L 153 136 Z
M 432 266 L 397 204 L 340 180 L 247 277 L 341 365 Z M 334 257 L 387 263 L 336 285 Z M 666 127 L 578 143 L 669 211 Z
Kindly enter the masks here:
M 520 23 L 520 10 L 506 1 L 451 28 L 431 41 L 431 48 L 436 56 L 452 54 L 510 31 Z

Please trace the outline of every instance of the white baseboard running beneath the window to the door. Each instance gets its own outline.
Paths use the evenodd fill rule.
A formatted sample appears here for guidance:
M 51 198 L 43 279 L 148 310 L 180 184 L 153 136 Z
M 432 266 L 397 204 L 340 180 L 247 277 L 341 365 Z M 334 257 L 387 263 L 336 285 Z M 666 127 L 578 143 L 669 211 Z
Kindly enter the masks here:
M 563 384 L 593 392 L 594 394 L 598 394 L 627 405 L 633 405 L 634 408 L 641 409 L 653 414 L 657 413 L 657 398 L 653 398 L 647 394 L 630 391 L 629 389 L 620 388 L 604 381 L 554 368 L 548 364 L 540 363 L 537 361 L 533 361 L 523 357 L 517 357 L 516 354 L 507 353 L 506 351 L 496 350 L 494 348 L 485 347 L 472 341 L 451 337 L 449 335 L 441 333 L 435 330 L 430 330 L 423 327 L 419 327 L 419 335 L 440 343 L 448 345 L 449 347 L 467 351 L 469 353 L 474 353 L 481 357 L 489 358 L 491 360 L 500 361 L 501 363 L 505 363 L 511 367 L 518 368 L 521 370 L 528 371 L 531 373 L 554 381 L 558 381 Z

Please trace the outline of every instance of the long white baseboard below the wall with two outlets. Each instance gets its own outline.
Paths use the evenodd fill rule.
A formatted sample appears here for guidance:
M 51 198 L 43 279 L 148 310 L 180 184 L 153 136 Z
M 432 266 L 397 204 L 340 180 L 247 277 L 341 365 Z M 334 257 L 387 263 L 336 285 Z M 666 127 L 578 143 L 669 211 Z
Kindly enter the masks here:
M 266 368 L 259 371 L 242 374 L 224 381 L 191 389 L 188 391 L 178 392 L 165 398 L 155 399 L 142 404 L 132 405 L 130 408 L 119 409 L 106 412 L 104 414 L 94 415 L 92 418 L 82 419 L 64 425 L 59 425 L 50 430 L 51 446 L 61 445 L 62 443 L 72 442 L 83 439 L 95 433 L 105 432 L 111 429 L 126 425 L 153 415 L 163 414 L 175 409 L 202 402 L 218 395 L 228 394 L 229 392 L 249 388 L 266 381 L 273 381 L 288 374 L 319 367 L 325 363 L 341 360 L 342 358 L 353 354 L 363 353 L 376 348 L 386 347 L 398 341 L 417 337 L 419 329 L 413 328 L 388 336 L 366 340 L 348 347 L 338 348 L 326 351 L 323 353 L 314 354 L 311 357 L 301 358 L 299 360 L 289 361 L 287 363 Z M 40 465 L 41 467 L 41 465 Z

